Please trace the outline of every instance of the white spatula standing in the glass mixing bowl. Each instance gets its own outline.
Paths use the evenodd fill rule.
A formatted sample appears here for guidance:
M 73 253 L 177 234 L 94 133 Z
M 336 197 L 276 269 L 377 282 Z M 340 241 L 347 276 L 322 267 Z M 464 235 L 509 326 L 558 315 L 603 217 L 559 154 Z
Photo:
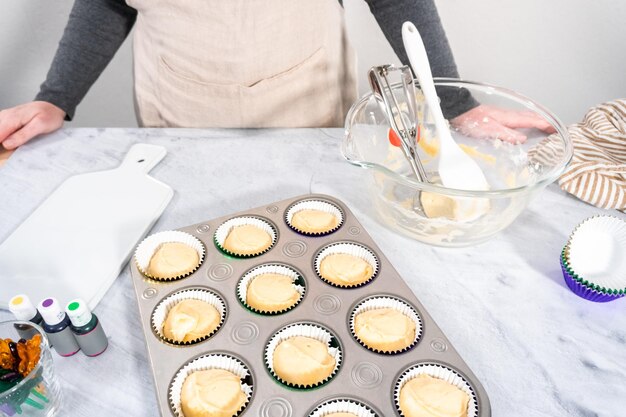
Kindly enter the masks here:
M 478 164 L 457 145 L 443 117 L 435 91 L 430 63 L 424 42 L 415 25 L 402 25 L 402 40 L 409 56 L 411 67 L 419 81 L 426 103 L 430 108 L 439 135 L 439 177 L 446 188 L 457 190 L 488 190 L 489 184 Z

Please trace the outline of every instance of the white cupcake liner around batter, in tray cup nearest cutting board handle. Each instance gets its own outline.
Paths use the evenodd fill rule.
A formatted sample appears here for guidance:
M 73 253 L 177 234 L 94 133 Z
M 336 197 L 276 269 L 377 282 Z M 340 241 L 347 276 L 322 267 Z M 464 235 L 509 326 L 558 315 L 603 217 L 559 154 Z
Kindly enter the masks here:
M 196 267 L 192 271 L 186 274 L 176 275 L 172 277 L 162 278 L 162 277 L 154 277 L 148 274 L 147 269 L 148 269 L 148 266 L 150 265 L 150 260 L 152 259 L 152 256 L 154 255 L 156 250 L 163 243 L 171 243 L 171 242 L 184 243 L 185 245 L 190 246 L 191 248 L 195 249 L 196 252 L 198 252 L 198 258 L 199 258 L 198 265 L 196 265 Z M 145 238 L 137 246 L 137 249 L 135 250 L 134 258 L 135 258 L 135 264 L 137 265 L 137 269 L 139 269 L 139 271 L 144 276 L 153 280 L 157 280 L 157 281 L 174 281 L 174 280 L 188 277 L 189 275 L 197 271 L 200 265 L 202 265 L 202 262 L 204 261 L 204 252 L 205 252 L 204 245 L 195 236 L 190 235 L 189 233 L 180 232 L 178 230 L 170 230 L 170 231 L 155 233 Z

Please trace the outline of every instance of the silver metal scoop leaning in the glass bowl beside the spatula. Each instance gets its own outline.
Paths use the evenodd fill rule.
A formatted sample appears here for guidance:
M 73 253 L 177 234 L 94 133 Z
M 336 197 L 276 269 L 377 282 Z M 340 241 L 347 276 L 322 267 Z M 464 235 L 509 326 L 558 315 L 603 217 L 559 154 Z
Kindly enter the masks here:
M 393 89 L 390 77 L 399 73 L 402 90 Z M 402 152 L 418 181 L 429 182 L 422 161 L 417 154 L 417 103 L 415 82 L 408 66 L 382 65 L 369 70 L 369 81 L 374 96 L 387 115 L 393 131 L 400 138 Z

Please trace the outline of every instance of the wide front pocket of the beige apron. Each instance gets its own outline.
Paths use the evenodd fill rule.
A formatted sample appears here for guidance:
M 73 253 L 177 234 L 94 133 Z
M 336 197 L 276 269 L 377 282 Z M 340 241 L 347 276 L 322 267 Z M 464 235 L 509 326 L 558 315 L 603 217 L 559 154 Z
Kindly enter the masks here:
M 216 84 L 180 73 L 159 59 L 157 96 L 170 127 L 332 127 L 341 92 L 330 88 L 325 49 L 250 85 Z

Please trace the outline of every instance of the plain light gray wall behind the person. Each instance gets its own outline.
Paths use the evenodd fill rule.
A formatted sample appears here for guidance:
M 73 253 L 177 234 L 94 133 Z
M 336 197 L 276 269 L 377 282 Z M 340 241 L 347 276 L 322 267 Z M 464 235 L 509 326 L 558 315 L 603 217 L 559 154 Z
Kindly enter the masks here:
M 0 108 L 29 101 L 36 94 L 72 2 L 1 1 Z M 359 88 L 366 92 L 367 69 L 397 58 L 366 3 L 344 3 L 350 38 L 359 55 Z M 437 4 L 465 79 L 517 90 L 568 124 L 579 121 L 595 104 L 626 97 L 623 0 L 439 0 Z M 129 40 L 67 126 L 136 126 Z

